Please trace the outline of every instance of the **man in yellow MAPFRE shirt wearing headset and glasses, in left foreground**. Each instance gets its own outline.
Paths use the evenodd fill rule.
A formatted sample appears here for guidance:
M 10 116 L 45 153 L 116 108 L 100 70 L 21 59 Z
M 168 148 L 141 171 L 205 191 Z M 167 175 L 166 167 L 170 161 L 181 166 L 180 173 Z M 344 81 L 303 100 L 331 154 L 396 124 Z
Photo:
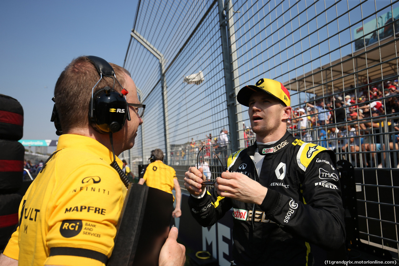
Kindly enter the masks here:
M 115 77 L 100 78 L 100 73 L 113 71 Z M 101 99 L 109 99 L 106 94 L 113 105 Z M 57 151 L 22 199 L 19 226 L 0 255 L 0 265 L 104 265 L 113 252 L 126 196 L 117 156 L 133 147 L 144 106 L 128 71 L 97 57 L 73 60 L 59 76 L 54 96 L 53 119 L 62 134 Z M 94 108 L 104 108 L 98 103 L 126 112 L 112 113 L 105 118 L 110 123 L 97 123 L 101 114 Z M 170 230 L 160 265 L 184 264 L 185 248 L 176 241 L 177 233 Z

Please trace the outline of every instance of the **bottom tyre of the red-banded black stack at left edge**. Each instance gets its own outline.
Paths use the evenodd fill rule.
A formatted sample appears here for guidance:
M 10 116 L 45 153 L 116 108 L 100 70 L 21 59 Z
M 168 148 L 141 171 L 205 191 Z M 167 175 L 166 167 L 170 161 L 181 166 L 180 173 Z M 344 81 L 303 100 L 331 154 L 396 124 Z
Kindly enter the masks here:
M 0 250 L 4 249 L 12 232 L 18 225 L 20 194 L 0 195 Z

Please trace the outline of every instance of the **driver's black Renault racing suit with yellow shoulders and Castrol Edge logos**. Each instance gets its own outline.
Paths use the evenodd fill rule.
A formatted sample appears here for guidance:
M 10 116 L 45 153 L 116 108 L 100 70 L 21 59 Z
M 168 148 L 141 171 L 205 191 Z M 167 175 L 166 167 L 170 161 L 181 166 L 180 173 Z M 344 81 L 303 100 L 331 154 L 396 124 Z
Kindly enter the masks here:
M 265 156 L 259 177 L 253 161 L 257 148 Z M 330 250 L 344 243 L 344 209 L 333 152 L 287 131 L 273 145 L 255 143 L 231 154 L 227 168 L 268 188 L 261 205 L 221 197 L 215 189 L 200 199 L 190 196 L 188 204 L 204 227 L 233 208 L 235 264 L 312 265 L 309 243 Z

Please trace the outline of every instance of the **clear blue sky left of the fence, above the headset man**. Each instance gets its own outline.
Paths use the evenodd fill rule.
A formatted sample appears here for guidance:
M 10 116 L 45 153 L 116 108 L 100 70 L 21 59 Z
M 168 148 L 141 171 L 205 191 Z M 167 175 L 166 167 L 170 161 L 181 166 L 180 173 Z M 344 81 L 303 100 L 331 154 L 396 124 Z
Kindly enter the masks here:
M 4 1 L 0 93 L 24 108 L 23 139 L 58 139 L 50 122 L 55 82 L 81 55 L 123 65 L 137 0 Z

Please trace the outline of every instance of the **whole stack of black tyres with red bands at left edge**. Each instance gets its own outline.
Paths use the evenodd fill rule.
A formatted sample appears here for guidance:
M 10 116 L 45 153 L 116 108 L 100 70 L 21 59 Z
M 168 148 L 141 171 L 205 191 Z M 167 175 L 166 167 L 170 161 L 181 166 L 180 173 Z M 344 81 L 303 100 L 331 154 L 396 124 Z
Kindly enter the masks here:
M 18 225 L 22 195 L 25 148 L 18 142 L 23 135 L 24 110 L 14 98 L 0 94 L 0 250 Z

